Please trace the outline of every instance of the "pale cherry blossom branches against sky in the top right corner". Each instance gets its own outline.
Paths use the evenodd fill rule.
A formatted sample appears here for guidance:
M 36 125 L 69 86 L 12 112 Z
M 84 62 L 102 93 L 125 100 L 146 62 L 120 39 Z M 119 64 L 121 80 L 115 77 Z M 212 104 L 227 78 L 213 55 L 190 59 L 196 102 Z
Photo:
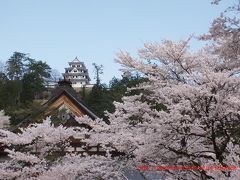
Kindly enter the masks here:
M 200 37 L 202 40 L 211 40 L 210 50 L 220 55 L 225 62 L 218 69 L 240 67 L 240 1 L 231 0 L 233 4 L 216 18 L 209 29 L 209 33 Z M 221 0 L 213 0 L 213 4 Z

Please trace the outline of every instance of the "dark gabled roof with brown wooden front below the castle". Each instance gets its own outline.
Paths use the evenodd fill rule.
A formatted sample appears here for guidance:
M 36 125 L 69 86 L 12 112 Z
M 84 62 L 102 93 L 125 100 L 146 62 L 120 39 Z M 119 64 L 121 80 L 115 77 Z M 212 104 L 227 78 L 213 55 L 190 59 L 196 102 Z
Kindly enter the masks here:
M 78 126 L 75 117 L 87 115 L 91 119 L 98 118 L 80 98 L 71 86 L 69 80 L 58 82 L 53 90 L 52 97 L 44 103 L 39 111 L 28 115 L 16 128 L 27 127 L 31 123 L 41 122 L 48 116 L 54 124 L 65 124 L 66 126 Z

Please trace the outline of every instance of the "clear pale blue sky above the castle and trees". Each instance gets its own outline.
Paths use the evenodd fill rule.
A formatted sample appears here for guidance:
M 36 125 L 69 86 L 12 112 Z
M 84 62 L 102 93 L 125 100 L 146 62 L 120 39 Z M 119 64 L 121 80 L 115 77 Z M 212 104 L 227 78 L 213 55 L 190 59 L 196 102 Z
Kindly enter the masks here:
M 135 55 L 144 42 L 206 33 L 226 1 L 215 6 L 210 0 L 0 0 L 0 60 L 14 51 L 29 53 L 62 73 L 77 56 L 92 82 L 92 63 L 102 64 L 108 83 L 121 77 L 117 52 Z

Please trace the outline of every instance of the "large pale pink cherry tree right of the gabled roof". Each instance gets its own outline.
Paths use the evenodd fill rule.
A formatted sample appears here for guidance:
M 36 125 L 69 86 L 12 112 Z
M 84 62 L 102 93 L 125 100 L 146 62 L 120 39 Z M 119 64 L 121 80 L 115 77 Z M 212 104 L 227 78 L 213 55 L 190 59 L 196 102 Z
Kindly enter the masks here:
M 124 71 L 138 71 L 148 82 L 142 93 L 115 102 L 110 125 L 91 124 L 88 143 L 125 154 L 132 166 L 238 166 L 240 79 L 235 68 L 219 70 L 221 57 L 188 51 L 189 40 L 146 43 L 139 57 L 118 54 Z M 131 89 L 130 89 L 131 91 Z M 169 171 L 172 178 L 223 179 L 239 171 Z

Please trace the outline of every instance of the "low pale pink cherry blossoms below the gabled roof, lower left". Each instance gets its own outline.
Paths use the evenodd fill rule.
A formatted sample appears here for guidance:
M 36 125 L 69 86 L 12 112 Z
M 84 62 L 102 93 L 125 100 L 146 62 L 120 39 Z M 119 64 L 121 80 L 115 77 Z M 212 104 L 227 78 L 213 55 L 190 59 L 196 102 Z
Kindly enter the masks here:
M 0 179 L 122 179 L 122 163 L 109 156 L 67 153 L 70 138 L 85 130 L 54 127 L 50 118 L 21 129 L 0 130 L 9 160 L 0 163 Z M 14 149 L 15 148 L 15 149 Z

